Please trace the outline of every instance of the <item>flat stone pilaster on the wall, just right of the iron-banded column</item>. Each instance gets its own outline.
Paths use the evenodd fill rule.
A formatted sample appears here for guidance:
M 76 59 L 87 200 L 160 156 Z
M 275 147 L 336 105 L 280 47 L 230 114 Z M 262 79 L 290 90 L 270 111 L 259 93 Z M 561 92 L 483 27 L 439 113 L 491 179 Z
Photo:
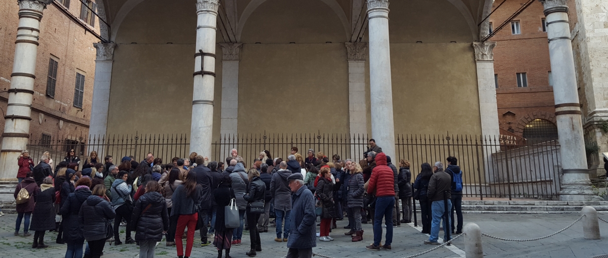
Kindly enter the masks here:
M 221 43 L 219 46 L 223 52 L 220 134 L 232 138 L 238 133 L 238 61 L 243 43 Z

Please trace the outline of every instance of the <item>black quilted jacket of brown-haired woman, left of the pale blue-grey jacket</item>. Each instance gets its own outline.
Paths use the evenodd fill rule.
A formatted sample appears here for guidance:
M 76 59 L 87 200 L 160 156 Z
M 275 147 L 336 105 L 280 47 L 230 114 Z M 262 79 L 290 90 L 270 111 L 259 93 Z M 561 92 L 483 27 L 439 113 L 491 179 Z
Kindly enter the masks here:
M 91 195 L 86 198 L 78 212 L 78 220 L 83 225 L 84 237 L 87 242 L 106 239 L 106 223 L 116 217 L 114 208 L 104 198 Z

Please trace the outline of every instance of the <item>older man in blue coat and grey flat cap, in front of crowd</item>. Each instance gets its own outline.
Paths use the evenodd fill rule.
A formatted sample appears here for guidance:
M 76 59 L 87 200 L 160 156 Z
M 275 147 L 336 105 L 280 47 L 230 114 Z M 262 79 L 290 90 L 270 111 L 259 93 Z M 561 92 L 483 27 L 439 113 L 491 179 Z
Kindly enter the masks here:
M 302 173 L 287 178 L 291 192 L 291 233 L 286 258 L 310 258 L 317 246 L 316 217 L 313 193 L 304 184 Z

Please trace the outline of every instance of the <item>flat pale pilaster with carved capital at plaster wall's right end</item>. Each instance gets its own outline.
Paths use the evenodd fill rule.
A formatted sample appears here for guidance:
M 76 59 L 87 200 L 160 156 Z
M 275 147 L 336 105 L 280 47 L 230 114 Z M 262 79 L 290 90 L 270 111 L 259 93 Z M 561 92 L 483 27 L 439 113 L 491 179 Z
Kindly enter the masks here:
M 479 92 L 479 113 L 482 119 L 482 134 L 498 138 L 498 107 L 496 105 L 496 85 L 494 85 L 494 46 L 496 42 L 474 42 L 475 64 L 477 65 L 477 90 Z

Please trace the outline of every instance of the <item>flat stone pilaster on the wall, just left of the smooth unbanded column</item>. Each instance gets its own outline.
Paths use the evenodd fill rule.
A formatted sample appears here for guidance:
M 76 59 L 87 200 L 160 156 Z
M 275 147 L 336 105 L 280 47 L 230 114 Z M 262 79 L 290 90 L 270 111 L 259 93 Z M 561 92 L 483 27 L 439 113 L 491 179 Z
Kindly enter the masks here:
M 367 43 L 344 43 L 348 55 L 348 117 L 350 120 L 350 136 L 353 139 L 367 136 L 367 102 L 365 101 L 365 57 L 367 57 Z M 363 158 L 366 150 L 365 142 L 357 147 L 351 142 L 350 157 L 354 160 Z

